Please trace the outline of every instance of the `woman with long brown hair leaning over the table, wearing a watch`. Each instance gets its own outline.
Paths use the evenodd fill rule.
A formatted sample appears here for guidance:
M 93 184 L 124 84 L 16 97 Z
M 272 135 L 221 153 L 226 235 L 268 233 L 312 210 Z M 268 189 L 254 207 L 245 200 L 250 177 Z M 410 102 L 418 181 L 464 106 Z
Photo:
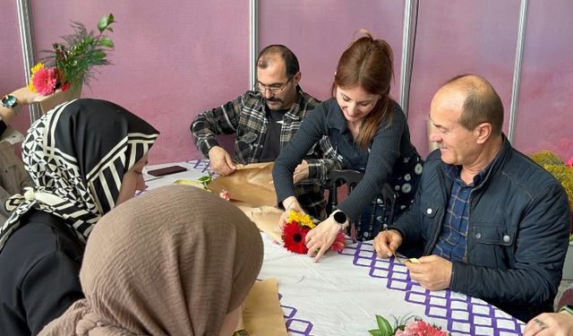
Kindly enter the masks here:
M 406 116 L 389 98 L 392 50 L 384 40 L 364 33 L 366 36 L 356 39 L 338 61 L 333 98 L 322 102 L 304 119 L 273 169 L 277 199 L 286 212 L 302 211 L 295 198 L 292 176 L 315 143 L 326 143 L 325 155 L 338 162 L 334 168 L 363 172 L 362 181 L 338 204 L 338 210 L 306 235 L 309 255 L 320 250 L 317 261 L 348 221 L 356 223 L 360 240 L 376 237 L 381 221 L 371 226 L 368 211 L 384 183 L 394 186 L 398 211 L 403 211 L 414 199 L 422 173 L 423 160 L 410 142 Z

